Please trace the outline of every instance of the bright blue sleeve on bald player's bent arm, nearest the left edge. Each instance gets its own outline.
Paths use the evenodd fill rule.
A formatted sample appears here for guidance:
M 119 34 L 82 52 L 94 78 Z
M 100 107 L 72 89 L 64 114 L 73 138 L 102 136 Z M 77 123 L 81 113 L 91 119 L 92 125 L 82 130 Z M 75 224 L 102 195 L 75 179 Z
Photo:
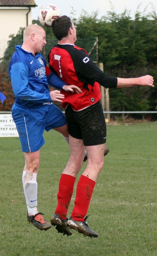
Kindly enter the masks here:
M 36 101 L 37 103 L 52 102 L 50 93 L 40 93 L 28 86 L 29 70 L 23 63 L 12 64 L 10 69 L 11 84 L 17 99 Z

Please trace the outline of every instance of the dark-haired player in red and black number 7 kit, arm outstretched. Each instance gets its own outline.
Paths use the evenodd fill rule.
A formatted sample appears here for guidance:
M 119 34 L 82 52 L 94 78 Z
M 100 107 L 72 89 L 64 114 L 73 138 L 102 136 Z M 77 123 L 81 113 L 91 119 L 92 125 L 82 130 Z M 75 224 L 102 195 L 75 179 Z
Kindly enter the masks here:
M 53 21 L 52 31 L 58 39 L 58 45 L 49 53 L 50 69 L 55 71 L 65 83 L 77 85 L 83 92 L 72 94 L 61 91 L 65 96 L 62 106 L 65 108 L 70 134 L 70 158 L 60 178 L 58 205 L 51 223 L 63 235 L 71 235 L 70 229 L 75 229 L 84 235 L 98 237 L 98 234 L 87 225 L 85 216 L 95 182 L 104 164 L 106 124 L 100 104 L 99 84 L 105 88 L 135 85 L 154 87 L 153 78 L 146 75 L 124 79 L 105 75 L 84 49 L 74 45 L 76 29 L 67 16 L 61 16 Z M 88 162 L 78 180 L 73 211 L 67 220 L 74 182 L 84 160 L 84 146 L 87 150 Z

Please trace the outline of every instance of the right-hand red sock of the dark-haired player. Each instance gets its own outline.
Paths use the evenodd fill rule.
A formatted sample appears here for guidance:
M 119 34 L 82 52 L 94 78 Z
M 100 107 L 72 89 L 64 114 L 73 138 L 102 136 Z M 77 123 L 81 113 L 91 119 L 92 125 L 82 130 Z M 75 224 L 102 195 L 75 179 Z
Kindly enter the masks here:
M 81 175 L 76 189 L 75 205 L 72 218 L 75 221 L 84 221 L 89 208 L 90 199 L 94 190 L 95 181 Z

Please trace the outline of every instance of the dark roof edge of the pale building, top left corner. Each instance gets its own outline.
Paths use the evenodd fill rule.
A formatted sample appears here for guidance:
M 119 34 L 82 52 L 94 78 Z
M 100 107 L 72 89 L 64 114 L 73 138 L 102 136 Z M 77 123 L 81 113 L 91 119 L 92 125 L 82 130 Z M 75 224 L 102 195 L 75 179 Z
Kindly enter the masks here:
M 0 0 L 0 6 L 37 6 L 34 0 Z

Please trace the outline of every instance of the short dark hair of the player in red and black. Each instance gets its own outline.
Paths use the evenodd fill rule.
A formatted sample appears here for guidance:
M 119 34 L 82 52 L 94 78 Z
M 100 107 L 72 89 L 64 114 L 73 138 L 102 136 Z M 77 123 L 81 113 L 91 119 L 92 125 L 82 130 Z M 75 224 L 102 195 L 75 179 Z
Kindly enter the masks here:
M 63 15 L 52 22 L 52 31 L 54 36 L 61 40 L 68 36 L 69 28 L 72 27 L 72 21 L 69 17 Z

